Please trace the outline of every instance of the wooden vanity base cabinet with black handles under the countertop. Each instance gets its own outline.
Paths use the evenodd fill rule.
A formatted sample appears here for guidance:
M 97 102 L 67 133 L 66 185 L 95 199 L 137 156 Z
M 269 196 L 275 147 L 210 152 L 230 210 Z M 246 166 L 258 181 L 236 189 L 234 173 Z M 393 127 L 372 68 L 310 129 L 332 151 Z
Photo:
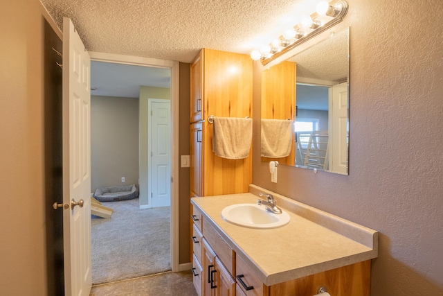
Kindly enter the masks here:
M 199 296 L 311 296 L 322 286 L 335 296 L 370 296 L 370 260 L 266 286 L 197 207 L 191 220 L 192 273 Z

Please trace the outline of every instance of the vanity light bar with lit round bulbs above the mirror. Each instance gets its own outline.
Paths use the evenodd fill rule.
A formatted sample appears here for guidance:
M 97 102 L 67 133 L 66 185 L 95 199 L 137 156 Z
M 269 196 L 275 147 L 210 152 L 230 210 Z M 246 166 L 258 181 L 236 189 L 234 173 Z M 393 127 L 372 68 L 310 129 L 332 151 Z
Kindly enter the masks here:
M 298 44 L 302 44 L 338 24 L 345 17 L 347 9 L 348 5 L 345 0 L 320 1 L 317 4 L 316 12 L 303 17 L 300 24 L 285 30 L 271 44 L 262 46 L 260 50 L 253 50 L 251 58 L 253 60 L 261 60 L 262 64 L 268 64 Z

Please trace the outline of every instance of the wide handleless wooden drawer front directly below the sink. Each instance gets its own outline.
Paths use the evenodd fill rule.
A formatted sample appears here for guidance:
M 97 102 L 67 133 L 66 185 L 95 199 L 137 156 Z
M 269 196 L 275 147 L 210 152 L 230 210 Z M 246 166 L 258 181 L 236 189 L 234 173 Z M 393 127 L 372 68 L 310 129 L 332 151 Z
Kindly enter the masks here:
M 225 265 L 231 275 L 235 275 L 235 252 L 224 241 L 223 238 L 215 231 L 215 229 L 206 221 L 203 221 L 203 236 L 213 248 L 215 254 L 219 256 L 221 262 Z

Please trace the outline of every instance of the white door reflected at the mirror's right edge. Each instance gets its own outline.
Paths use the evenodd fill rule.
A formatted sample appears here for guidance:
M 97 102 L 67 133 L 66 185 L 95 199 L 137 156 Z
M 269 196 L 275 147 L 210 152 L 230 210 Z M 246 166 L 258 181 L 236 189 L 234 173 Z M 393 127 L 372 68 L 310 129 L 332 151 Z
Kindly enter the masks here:
M 329 104 L 329 171 L 347 174 L 347 82 L 332 87 Z

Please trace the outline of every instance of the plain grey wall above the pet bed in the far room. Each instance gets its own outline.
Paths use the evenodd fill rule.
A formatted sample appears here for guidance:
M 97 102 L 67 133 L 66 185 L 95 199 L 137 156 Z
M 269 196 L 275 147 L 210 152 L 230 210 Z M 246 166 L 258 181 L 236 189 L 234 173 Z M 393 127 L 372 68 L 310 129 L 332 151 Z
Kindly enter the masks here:
M 91 191 L 131 184 L 138 184 L 138 98 L 91 96 Z

